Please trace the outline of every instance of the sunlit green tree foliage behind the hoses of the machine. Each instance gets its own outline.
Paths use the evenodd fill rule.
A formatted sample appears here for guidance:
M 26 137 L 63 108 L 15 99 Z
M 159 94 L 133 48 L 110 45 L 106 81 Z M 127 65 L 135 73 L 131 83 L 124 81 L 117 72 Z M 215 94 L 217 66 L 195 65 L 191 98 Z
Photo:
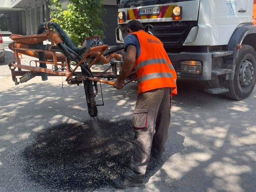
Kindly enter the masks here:
M 53 22 L 56 22 L 77 44 L 85 37 L 101 35 L 106 24 L 101 20 L 106 14 L 103 8 L 104 0 L 69 0 L 67 10 L 61 9 L 60 0 L 51 0 L 49 6 L 55 6 L 51 12 Z

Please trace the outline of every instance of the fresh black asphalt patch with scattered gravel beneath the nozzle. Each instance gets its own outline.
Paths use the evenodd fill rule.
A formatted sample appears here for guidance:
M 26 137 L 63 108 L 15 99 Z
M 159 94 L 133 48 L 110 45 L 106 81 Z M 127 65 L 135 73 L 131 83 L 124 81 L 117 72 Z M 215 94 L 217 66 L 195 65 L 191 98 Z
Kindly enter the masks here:
M 46 128 L 24 150 L 28 179 L 51 191 L 92 191 L 110 186 L 130 163 L 132 120 L 88 120 Z M 164 160 L 151 156 L 146 181 Z

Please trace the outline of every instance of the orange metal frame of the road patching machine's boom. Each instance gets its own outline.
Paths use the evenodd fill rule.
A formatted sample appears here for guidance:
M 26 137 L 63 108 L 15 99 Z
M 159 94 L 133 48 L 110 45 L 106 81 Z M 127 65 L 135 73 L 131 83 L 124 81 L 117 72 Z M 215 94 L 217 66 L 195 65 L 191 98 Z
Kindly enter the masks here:
M 31 35 L 31 36 L 17 35 L 17 36 L 12 36 L 10 38 L 12 38 L 14 41 L 17 40 L 18 43 L 23 42 L 23 44 L 24 44 L 24 42 L 27 42 L 28 39 L 29 40 L 32 39 L 33 44 L 40 43 L 40 42 L 42 42 L 46 39 L 51 39 L 51 37 L 48 36 L 46 33 L 45 34 L 40 34 L 40 35 Z M 33 39 L 33 38 L 35 38 L 35 39 Z M 89 38 L 92 38 L 92 37 L 89 37 Z M 86 38 L 86 39 L 88 39 L 88 38 Z M 56 38 L 56 36 L 55 36 L 55 40 L 61 41 L 61 39 Z M 68 66 L 67 58 L 65 58 L 65 61 L 63 61 L 63 59 L 61 59 L 61 60 L 59 59 L 59 61 L 58 61 L 57 56 L 56 56 L 56 52 L 52 51 L 52 46 L 54 46 L 55 44 L 57 44 L 57 43 L 54 42 L 54 39 L 51 39 L 51 46 L 50 46 L 49 50 L 37 50 L 37 49 L 32 50 L 32 49 L 29 49 L 29 48 L 24 48 L 24 46 L 23 46 L 23 48 L 20 48 L 20 47 L 17 47 L 17 46 L 15 48 L 12 47 L 14 49 L 14 54 L 16 55 L 16 58 L 17 58 L 17 63 L 15 61 L 10 61 L 9 62 L 9 68 L 12 72 L 12 79 L 15 82 L 15 84 L 17 84 L 16 76 L 23 76 L 28 72 L 33 73 L 35 76 L 40 76 L 41 72 L 47 73 L 48 76 L 66 76 L 67 77 L 66 81 L 68 82 L 68 84 L 72 84 L 71 80 L 74 79 L 73 75 L 76 72 L 76 69 L 83 63 L 83 61 L 87 60 L 88 66 L 89 66 L 89 68 L 91 68 L 92 65 L 94 65 L 95 62 L 100 58 L 100 56 L 102 56 L 103 52 L 105 52 L 108 48 L 108 45 L 100 45 L 100 46 L 97 46 L 97 47 L 90 48 L 88 52 L 84 53 L 82 60 L 76 65 L 74 70 L 70 71 L 69 66 Z M 27 44 L 24 44 L 24 45 L 27 45 Z M 51 61 L 48 61 L 48 60 L 47 61 L 31 60 L 31 61 L 34 61 L 36 63 L 36 66 L 23 65 L 20 62 L 19 50 L 38 51 L 38 52 L 52 52 L 53 62 L 52 62 L 52 60 Z M 100 54 L 97 55 L 97 57 L 91 63 L 91 56 L 90 55 L 92 55 L 92 53 L 96 53 L 96 52 L 100 52 Z M 52 67 L 54 66 L 54 68 L 58 68 L 58 66 L 61 66 L 62 68 L 66 67 L 67 71 L 64 71 L 64 69 L 60 69 L 60 70 L 55 70 L 53 68 L 50 69 L 50 68 L 47 68 L 47 67 L 46 68 L 41 68 L 41 67 L 37 66 L 37 63 L 50 64 L 50 65 L 52 65 Z M 18 71 L 15 70 L 15 68 L 18 68 Z M 108 70 L 110 70 L 111 68 L 112 68 L 112 72 L 108 72 Z M 22 69 L 24 69 L 24 70 L 22 70 Z M 78 73 L 79 72 L 76 72 L 76 74 L 78 74 Z M 104 74 L 106 74 L 106 75 L 117 75 L 116 74 L 117 69 L 116 69 L 115 64 L 111 64 L 106 70 L 104 70 L 102 72 L 92 72 L 92 73 L 94 74 L 94 76 L 99 76 L 99 75 L 104 75 Z M 81 74 L 81 72 L 80 72 L 80 74 Z M 92 78 L 92 77 L 83 76 L 82 74 L 81 75 L 80 74 L 78 76 L 76 76 L 76 80 L 80 81 L 80 82 L 85 80 L 85 79 L 89 79 L 89 80 L 92 80 L 92 81 L 98 81 L 98 82 L 102 82 L 102 83 L 106 83 L 106 84 L 110 84 L 110 85 L 114 84 L 114 82 L 112 82 L 112 81 L 106 81 L 106 80 L 102 80 L 100 78 Z M 126 84 L 128 84 L 128 83 L 130 83 L 134 80 L 136 80 L 136 78 L 131 79 L 130 81 L 126 82 L 124 85 L 126 85 Z

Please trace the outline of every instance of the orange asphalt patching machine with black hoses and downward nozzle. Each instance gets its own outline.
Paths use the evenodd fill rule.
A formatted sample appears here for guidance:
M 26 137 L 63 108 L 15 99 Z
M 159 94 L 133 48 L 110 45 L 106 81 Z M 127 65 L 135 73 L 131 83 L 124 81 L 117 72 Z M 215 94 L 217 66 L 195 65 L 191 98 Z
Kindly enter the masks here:
M 97 83 L 114 84 L 111 80 L 118 78 L 118 69 L 122 70 L 123 64 L 122 55 L 115 52 L 124 49 L 123 44 L 108 49 L 108 45 L 104 44 L 100 36 L 93 36 L 85 38 L 81 47 L 78 47 L 55 22 L 41 23 L 36 35 L 12 34 L 10 38 L 13 42 L 9 44 L 9 48 L 16 58 L 19 58 L 21 53 L 38 59 L 26 64 L 21 64 L 20 59 L 17 59 L 17 62 L 9 62 L 15 85 L 25 83 L 35 76 L 41 76 L 42 81 L 48 80 L 48 76 L 66 76 L 68 84 L 84 84 L 88 113 L 91 117 L 97 116 L 97 106 L 100 106 L 96 105 L 94 99 L 98 93 Z M 43 44 L 43 41 L 48 39 L 51 44 Z M 114 61 L 109 63 L 111 59 Z M 108 67 L 104 71 L 93 72 L 91 67 L 97 60 L 102 64 L 109 64 Z M 76 63 L 74 69 L 70 65 L 71 61 Z M 79 67 L 81 71 L 76 71 Z M 21 76 L 19 80 L 17 76 Z

